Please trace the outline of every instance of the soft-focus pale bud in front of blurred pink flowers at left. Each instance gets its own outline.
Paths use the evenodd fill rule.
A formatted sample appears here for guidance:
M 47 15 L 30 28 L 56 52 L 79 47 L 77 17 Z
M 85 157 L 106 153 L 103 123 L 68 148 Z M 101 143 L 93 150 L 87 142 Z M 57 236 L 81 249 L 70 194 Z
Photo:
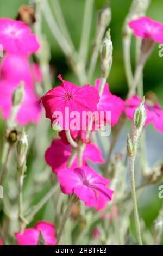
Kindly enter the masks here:
M 21 81 L 19 86 L 14 90 L 12 94 L 12 106 L 18 106 L 22 103 L 24 96 L 24 82 Z

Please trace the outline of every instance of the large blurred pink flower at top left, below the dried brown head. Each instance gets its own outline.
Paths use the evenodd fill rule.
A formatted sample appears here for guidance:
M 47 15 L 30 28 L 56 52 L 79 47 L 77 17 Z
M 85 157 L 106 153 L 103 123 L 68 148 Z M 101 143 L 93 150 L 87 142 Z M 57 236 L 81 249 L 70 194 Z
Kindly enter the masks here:
M 0 19 L 0 44 L 4 51 L 24 56 L 39 49 L 36 36 L 24 22 L 6 18 Z

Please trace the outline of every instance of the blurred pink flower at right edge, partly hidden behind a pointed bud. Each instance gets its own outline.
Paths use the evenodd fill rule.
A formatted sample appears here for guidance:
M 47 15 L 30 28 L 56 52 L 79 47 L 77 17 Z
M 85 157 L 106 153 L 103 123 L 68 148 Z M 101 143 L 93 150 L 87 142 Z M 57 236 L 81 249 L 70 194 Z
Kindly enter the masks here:
M 125 113 L 127 118 L 133 120 L 134 111 L 140 105 L 140 102 L 141 98 L 137 95 L 134 95 L 130 99 L 126 100 Z M 153 123 L 153 126 L 156 130 L 163 132 L 163 110 L 161 109 L 160 104 L 155 103 L 154 105 L 151 105 L 146 101 L 145 109 L 147 113 L 147 120 L 145 125 Z

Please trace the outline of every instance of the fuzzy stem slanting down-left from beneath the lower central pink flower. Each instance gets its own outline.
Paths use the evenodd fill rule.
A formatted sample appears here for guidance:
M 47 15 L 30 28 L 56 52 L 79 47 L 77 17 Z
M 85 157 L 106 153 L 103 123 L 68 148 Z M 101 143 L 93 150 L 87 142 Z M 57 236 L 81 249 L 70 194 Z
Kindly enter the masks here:
M 74 205 L 75 199 L 76 199 L 76 195 L 75 195 L 75 194 L 71 194 L 70 200 L 69 200 L 69 202 L 68 202 L 68 204 L 67 204 L 66 211 L 65 211 L 64 215 L 62 216 L 62 220 L 61 220 L 61 222 L 60 222 L 61 225 L 60 225 L 59 232 L 58 232 L 58 234 L 57 234 L 57 243 L 56 243 L 57 245 L 58 245 L 58 243 L 59 243 L 59 241 L 60 241 L 60 239 L 61 239 L 61 235 L 62 235 L 62 232 L 63 232 L 63 230 L 64 230 L 66 221 L 68 220 L 68 218 L 69 218 L 69 216 L 70 216 L 70 214 L 71 214 L 71 209 L 72 209 L 72 207 L 73 207 L 73 205 Z

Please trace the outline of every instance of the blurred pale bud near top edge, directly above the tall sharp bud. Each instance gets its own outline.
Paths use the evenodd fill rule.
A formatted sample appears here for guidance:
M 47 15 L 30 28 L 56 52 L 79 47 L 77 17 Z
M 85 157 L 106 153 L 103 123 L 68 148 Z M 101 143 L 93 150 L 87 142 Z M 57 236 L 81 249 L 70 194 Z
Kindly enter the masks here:
M 100 26 L 106 27 L 111 21 L 111 9 L 110 7 L 104 7 L 99 11 L 98 22 Z

